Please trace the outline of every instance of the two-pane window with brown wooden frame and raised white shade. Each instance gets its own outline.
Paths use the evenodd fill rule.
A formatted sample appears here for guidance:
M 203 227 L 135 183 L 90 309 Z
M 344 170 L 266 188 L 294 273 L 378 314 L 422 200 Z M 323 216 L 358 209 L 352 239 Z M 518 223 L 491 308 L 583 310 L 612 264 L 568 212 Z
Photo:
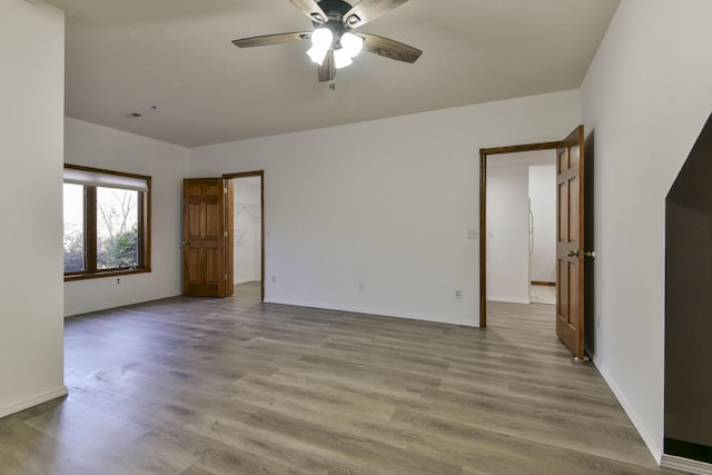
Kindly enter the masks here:
M 65 280 L 150 270 L 150 182 L 65 166 Z

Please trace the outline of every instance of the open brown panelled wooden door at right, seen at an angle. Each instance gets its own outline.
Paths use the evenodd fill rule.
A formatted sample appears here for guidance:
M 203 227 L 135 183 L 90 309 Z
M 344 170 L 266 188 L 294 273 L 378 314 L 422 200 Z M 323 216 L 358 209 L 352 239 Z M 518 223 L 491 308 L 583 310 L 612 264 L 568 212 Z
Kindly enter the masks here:
M 584 137 L 578 126 L 556 149 L 556 335 L 584 355 Z

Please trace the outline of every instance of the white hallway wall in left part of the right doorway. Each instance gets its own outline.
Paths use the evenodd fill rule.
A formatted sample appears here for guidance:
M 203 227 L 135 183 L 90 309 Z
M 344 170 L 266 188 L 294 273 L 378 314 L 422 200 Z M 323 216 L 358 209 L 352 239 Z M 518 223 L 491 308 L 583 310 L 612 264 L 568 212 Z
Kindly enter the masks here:
M 530 303 L 528 168 L 487 167 L 487 300 Z

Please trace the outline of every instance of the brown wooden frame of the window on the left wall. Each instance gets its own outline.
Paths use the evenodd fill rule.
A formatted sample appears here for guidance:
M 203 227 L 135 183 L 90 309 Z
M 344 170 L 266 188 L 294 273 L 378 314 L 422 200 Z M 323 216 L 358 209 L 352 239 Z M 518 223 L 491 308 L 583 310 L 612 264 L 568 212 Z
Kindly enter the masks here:
M 97 186 L 81 184 L 83 187 L 83 238 L 85 238 L 85 269 L 65 273 L 65 281 L 115 277 L 130 274 L 151 271 L 151 177 L 122 171 L 105 170 L 79 165 L 65 164 L 65 169 L 82 170 L 93 174 L 116 177 L 136 178 L 146 181 L 146 191 L 138 190 L 138 222 L 139 222 L 139 266 L 112 269 L 97 268 Z M 65 182 L 65 181 L 62 181 Z M 117 187 L 118 189 L 125 189 Z

